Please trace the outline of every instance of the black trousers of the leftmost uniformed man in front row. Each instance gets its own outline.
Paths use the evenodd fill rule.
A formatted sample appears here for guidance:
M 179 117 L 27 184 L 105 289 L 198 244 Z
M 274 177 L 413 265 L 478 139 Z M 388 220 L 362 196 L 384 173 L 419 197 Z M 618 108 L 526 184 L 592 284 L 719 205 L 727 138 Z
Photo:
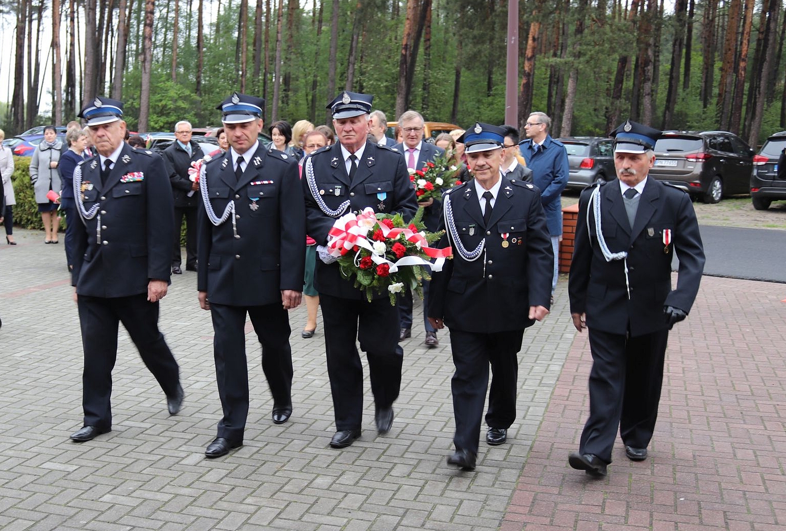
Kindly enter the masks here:
M 117 360 L 120 322 L 164 394 L 174 397 L 178 393 L 178 362 L 158 329 L 158 302 L 149 302 L 147 294 L 115 298 L 79 295 L 77 307 L 85 355 L 82 374 L 85 426 L 112 427 L 112 368 Z

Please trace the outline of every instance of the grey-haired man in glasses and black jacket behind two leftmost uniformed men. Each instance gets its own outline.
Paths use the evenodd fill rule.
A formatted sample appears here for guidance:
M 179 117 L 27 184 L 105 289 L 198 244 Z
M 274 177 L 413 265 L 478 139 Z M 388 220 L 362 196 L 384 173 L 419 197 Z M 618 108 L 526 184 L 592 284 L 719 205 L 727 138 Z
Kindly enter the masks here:
M 174 242 L 172 273 L 180 275 L 180 227 L 185 217 L 185 270 L 196 271 L 196 208 L 202 203 L 199 183 L 189 176 L 191 163 L 204 157 L 202 148 L 191 139 L 191 124 L 181 120 L 174 124 L 174 142 L 161 156 L 167 163 L 174 197 Z

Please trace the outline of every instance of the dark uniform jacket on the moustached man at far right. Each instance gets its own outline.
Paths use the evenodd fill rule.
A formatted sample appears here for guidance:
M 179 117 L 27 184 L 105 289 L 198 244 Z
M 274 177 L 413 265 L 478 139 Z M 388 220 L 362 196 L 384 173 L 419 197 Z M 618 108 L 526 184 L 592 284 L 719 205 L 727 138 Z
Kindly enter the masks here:
M 568 279 L 571 313 L 586 313 L 588 328 L 612 334 L 645 335 L 664 330 L 663 306 L 688 313 L 699 291 L 704 251 L 696 214 L 687 193 L 648 178 L 630 228 L 619 181 L 601 185 L 601 228 L 612 252 L 627 251 L 630 300 L 623 260 L 606 262 L 597 243 L 592 212 L 586 223 L 589 196 L 582 192 L 578 207 L 575 250 Z M 663 231 L 670 229 L 669 252 Z M 671 289 L 671 258 L 679 258 L 677 288 Z

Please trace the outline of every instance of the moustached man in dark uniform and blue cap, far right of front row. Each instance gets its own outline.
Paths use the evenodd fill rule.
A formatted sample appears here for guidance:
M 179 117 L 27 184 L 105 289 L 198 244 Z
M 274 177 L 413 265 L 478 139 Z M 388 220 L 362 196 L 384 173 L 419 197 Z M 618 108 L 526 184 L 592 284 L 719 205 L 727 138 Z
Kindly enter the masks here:
M 618 427 L 626 456 L 647 458 L 669 330 L 689 313 L 704 268 L 690 197 L 648 178 L 659 136 L 630 120 L 619 126 L 612 132 L 618 179 L 579 200 L 568 294 L 576 330 L 589 329 L 593 366 L 589 418 L 568 462 L 595 478 L 612 462 Z

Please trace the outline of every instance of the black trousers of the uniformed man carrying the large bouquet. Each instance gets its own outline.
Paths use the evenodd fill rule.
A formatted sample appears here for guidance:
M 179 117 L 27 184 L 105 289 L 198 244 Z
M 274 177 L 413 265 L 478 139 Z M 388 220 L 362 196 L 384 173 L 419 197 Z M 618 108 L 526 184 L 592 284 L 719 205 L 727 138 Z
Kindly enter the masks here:
M 369 361 L 374 404 L 389 408 L 399 397 L 404 350 L 399 310 L 390 299 L 339 298 L 320 294 L 336 430 L 359 430 L 363 417 L 363 368 L 355 338 Z

